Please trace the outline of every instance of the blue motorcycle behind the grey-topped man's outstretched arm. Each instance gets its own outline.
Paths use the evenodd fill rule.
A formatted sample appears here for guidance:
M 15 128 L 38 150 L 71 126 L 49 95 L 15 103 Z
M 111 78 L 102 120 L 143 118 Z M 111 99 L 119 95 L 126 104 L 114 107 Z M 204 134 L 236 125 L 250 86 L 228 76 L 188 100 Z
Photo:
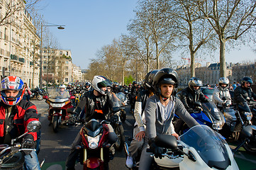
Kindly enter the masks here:
M 212 103 L 201 103 L 199 101 L 194 102 L 194 113 L 190 115 L 200 124 L 200 125 L 208 125 L 213 128 L 213 130 L 221 130 L 223 128 L 224 123 L 226 122 L 225 117 L 221 111 L 218 110 L 217 106 Z M 174 124 L 176 123 L 177 115 L 174 115 Z M 188 126 L 184 123 L 182 125 L 181 130 L 177 132 L 179 135 L 182 135 L 184 132 L 188 130 Z

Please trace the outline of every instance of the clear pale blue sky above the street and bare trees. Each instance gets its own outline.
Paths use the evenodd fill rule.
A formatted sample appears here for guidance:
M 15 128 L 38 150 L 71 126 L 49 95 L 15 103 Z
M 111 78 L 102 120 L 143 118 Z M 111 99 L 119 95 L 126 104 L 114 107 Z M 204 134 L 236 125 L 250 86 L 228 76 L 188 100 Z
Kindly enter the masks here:
M 71 50 L 72 62 L 87 69 L 98 50 L 121 34 L 128 34 L 126 28 L 136 6 L 137 0 L 41 0 L 39 13 L 48 23 L 65 25 L 64 30 L 49 27 L 50 32 L 62 50 Z M 226 52 L 228 63 L 245 60 L 256 60 L 256 53 L 249 47 Z M 218 52 L 205 62 L 219 62 Z

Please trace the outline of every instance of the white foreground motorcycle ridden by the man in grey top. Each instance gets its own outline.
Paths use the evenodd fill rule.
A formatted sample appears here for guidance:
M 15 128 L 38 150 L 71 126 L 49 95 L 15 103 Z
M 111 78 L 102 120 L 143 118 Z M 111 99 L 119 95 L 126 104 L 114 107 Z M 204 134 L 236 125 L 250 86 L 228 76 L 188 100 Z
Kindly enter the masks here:
M 154 157 L 150 169 L 238 169 L 228 143 L 206 125 L 196 125 L 177 140 L 158 135 L 155 144 L 165 148 L 162 159 Z M 147 149 L 147 152 L 152 152 Z

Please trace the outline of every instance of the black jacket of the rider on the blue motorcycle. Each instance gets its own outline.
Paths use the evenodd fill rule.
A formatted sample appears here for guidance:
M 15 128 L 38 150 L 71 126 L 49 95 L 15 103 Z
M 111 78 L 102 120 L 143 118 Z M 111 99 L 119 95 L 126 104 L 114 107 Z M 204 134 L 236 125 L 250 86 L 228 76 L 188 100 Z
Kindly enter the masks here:
M 201 90 L 197 93 L 191 91 L 189 87 L 180 91 L 177 96 L 179 97 L 180 101 L 184 104 L 185 108 L 194 108 L 194 102 L 200 101 L 201 103 L 208 103 L 206 96 L 201 92 Z

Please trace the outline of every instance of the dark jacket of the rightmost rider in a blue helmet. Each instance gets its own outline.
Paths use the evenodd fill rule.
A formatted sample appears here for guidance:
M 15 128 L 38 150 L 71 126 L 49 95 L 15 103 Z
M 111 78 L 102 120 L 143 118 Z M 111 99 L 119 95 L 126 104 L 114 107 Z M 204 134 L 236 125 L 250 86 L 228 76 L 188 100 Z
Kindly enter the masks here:
M 234 91 L 234 103 L 243 103 L 246 101 L 253 101 L 256 99 L 256 94 L 252 92 L 252 89 L 238 86 Z

